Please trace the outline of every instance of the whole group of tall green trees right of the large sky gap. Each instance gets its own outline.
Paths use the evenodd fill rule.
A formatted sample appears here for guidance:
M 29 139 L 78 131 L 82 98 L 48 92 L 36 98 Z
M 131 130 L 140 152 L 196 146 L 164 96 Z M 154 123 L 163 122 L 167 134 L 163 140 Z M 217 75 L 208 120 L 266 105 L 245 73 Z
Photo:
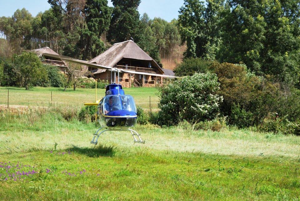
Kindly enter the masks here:
M 186 58 L 244 63 L 257 75 L 299 85 L 300 1 L 185 0 L 178 28 Z

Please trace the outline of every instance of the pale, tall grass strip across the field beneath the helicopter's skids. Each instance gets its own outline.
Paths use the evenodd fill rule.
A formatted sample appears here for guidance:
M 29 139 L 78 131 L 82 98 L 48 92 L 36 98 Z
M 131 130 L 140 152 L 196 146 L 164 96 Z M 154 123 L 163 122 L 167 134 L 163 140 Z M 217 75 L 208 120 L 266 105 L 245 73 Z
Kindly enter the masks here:
M 98 123 L 78 121 L 76 108 L 44 108 L 19 112 L 0 113 L 0 145 L 10 150 L 26 150 L 32 147 L 49 149 L 54 143 L 58 148 L 71 145 L 91 146 L 92 134 Z M 134 127 L 147 141 L 143 148 L 153 150 L 201 151 L 203 153 L 243 156 L 284 156 L 297 158 L 300 138 L 292 135 L 259 133 L 251 130 L 222 128 L 220 131 L 196 130 L 194 125 L 179 124 L 161 128 L 156 125 Z M 22 138 L 20 141 L 19 138 Z M 11 143 L 5 143 L 10 141 Z M 127 131 L 108 131 L 99 142 L 130 147 L 132 136 Z M 4 150 L 0 150 L 1 151 Z

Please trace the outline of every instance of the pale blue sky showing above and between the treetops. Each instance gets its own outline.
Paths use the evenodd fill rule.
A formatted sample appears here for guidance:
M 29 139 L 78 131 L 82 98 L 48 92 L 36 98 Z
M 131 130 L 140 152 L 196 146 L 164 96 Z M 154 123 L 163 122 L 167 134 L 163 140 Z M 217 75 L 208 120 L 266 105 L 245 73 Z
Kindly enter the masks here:
M 108 1 L 109 6 L 113 4 Z M 142 0 L 138 8 L 139 13 L 147 13 L 150 18 L 160 17 L 167 21 L 178 18 L 178 10 L 183 0 Z M 26 8 L 33 16 L 38 12 L 50 8 L 47 0 L 0 0 L 0 17 L 12 16 L 18 8 Z

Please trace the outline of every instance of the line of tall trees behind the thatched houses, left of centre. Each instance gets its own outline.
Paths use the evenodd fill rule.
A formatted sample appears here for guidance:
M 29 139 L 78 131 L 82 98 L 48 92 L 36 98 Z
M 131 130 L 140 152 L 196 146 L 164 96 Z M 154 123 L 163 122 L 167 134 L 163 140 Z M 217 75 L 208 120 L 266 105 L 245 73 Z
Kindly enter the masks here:
M 48 46 L 59 54 L 90 60 L 113 43 L 133 38 L 161 66 L 172 68 L 183 47 L 177 20 L 138 13 L 140 0 L 48 0 L 51 8 L 32 16 L 25 8 L 0 18 L 0 56 Z M 176 62 L 175 62 L 176 61 Z

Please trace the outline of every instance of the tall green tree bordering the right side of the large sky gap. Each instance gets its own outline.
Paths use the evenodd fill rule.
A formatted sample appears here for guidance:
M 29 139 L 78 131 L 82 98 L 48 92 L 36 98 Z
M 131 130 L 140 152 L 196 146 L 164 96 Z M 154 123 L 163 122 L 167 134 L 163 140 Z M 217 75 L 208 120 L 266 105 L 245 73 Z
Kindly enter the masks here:
M 220 43 L 220 13 L 223 0 L 209 0 L 207 7 L 199 0 L 185 0 L 179 9 L 178 27 L 182 43 L 187 43 L 184 53 L 188 57 L 202 57 L 210 60 Z

